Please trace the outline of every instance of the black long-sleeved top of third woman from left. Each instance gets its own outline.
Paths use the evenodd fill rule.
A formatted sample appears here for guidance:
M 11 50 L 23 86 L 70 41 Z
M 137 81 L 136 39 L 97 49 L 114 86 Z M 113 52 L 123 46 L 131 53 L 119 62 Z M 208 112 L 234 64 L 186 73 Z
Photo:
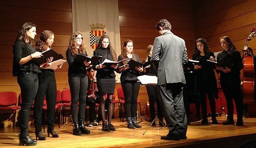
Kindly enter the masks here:
M 78 49 L 78 53 L 80 55 L 87 56 L 87 53 L 86 54 L 80 53 L 79 49 Z M 76 55 L 73 56 L 69 49 L 66 51 L 66 57 L 67 57 L 67 61 L 68 61 L 68 76 L 69 77 L 85 77 L 85 76 L 87 76 L 86 68 L 88 66 L 85 66 L 83 62 L 76 63 L 74 61 L 74 59 L 76 58 Z

